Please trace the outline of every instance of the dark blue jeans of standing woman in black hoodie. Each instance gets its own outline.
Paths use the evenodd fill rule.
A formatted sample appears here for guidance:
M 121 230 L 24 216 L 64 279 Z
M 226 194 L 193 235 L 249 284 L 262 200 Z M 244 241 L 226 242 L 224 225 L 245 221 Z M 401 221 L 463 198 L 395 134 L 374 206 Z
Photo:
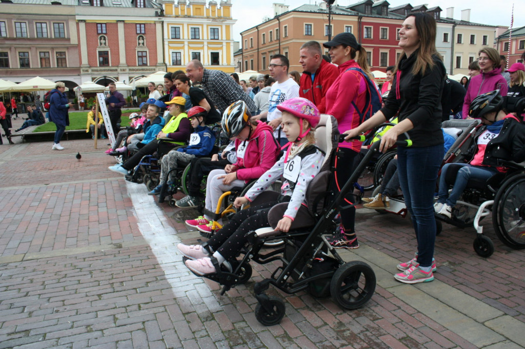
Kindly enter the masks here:
M 443 144 L 397 148 L 397 173 L 406 208 L 412 215 L 417 239 L 417 262 L 422 267 L 431 266 L 434 257 L 434 191 L 444 152 Z

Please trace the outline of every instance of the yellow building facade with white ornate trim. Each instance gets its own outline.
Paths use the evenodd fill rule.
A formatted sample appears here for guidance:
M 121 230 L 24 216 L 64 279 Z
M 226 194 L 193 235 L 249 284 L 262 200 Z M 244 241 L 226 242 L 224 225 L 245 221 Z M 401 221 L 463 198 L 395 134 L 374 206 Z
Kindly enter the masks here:
M 234 40 L 231 0 L 164 1 L 164 57 L 167 71 L 185 70 L 198 59 L 206 68 L 233 73 Z

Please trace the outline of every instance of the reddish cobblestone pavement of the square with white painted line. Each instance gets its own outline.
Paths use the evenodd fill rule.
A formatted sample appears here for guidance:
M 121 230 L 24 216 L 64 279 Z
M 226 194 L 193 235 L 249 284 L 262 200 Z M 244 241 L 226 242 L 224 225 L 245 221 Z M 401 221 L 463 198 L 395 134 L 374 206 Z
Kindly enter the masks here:
M 200 238 L 182 224 L 188 212 L 107 170 L 102 141 L 51 145 L 0 146 L 0 348 L 525 347 L 525 251 L 501 244 L 490 220 L 492 257 L 472 250 L 473 228 L 444 224 L 436 280 L 411 286 L 392 276 L 413 256 L 411 223 L 360 209 L 361 247 L 342 257 L 372 266 L 372 299 L 343 311 L 270 287 L 286 315 L 265 327 L 253 286 L 275 265 L 253 264 L 246 285 L 220 296 L 175 248 Z

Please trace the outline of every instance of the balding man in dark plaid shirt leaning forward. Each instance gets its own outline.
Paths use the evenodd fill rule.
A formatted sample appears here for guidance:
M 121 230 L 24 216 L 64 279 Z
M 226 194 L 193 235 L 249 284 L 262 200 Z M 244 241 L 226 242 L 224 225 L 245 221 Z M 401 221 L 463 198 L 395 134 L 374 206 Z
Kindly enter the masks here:
M 239 100 L 246 102 L 251 115 L 257 114 L 257 108 L 251 98 L 244 93 L 228 74 L 220 70 L 204 69 L 201 61 L 192 60 L 186 66 L 186 75 L 192 83 L 200 82 L 204 93 L 213 101 L 222 114 L 227 107 Z

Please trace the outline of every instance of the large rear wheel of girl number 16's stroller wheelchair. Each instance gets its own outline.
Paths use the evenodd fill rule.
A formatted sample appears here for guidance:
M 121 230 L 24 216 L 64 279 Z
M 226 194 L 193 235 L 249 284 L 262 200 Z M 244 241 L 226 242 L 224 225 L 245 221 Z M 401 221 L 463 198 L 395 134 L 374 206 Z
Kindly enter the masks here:
M 372 268 L 359 260 L 345 263 L 330 281 L 332 299 L 343 309 L 357 309 L 370 300 L 375 290 Z

